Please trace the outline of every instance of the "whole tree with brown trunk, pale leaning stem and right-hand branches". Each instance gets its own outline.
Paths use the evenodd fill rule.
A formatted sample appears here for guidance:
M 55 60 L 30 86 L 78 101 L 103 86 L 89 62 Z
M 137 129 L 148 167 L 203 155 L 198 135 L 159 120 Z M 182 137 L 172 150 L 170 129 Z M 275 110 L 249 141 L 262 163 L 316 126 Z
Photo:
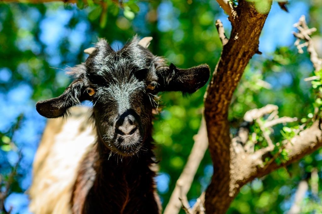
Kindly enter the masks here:
M 185 169 L 189 170 L 185 170 L 182 177 L 178 180 L 177 187 L 165 210 L 166 213 L 178 212 L 181 204 L 184 205 L 187 212 L 201 212 L 199 210 L 202 210 L 203 202 L 207 213 L 224 213 L 243 185 L 254 178 L 260 178 L 279 167 L 285 167 L 297 161 L 317 150 L 322 145 L 322 133 L 319 125 L 321 99 L 320 92 L 318 91 L 321 60 L 317 57 L 311 43 L 310 35 L 313 30 L 308 29 L 303 18 L 298 23 L 300 31 L 296 36 L 299 39 L 305 40 L 304 44 L 308 45 L 311 61 L 315 65 L 315 75 L 313 79 L 309 80 L 312 80 L 316 86 L 317 98 L 315 99 L 315 108 L 317 110 L 312 116 L 307 118 L 306 122 L 298 126 L 282 127 L 283 137 L 280 139 L 276 138 L 277 141 L 271 139 L 270 128 L 276 124 L 297 122 L 298 120 L 287 116 L 277 118 L 276 112 L 278 107 L 274 105 L 267 105 L 248 111 L 243 116 L 243 121 L 239 121 L 240 125 L 237 125 L 236 130 L 232 130 L 229 119 L 229 107 L 232 103 L 233 93 L 241 81 L 242 74 L 251 57 L 255 54 L 260 54 L 259 37 L 272 2 L 262 1 L 265 2 L 265 5 L 260 5 L 259 2 L 261 1 L 240 0 L 238 2 L 227 2 L 217 0 L 217 2 L 228 14 L 232 30 L 230 38 L 227 39 L 224 34 L 223 24 L 219 20 L 216 21 L 223 50 L 205 95 L 205 122 L 204 125 L 203 123 L 201 124 L 190 155 L 191 158 L 189 158 L 190 161 L 188 160 L 187 162 L 188 167 Z M 78 2 L 78 4 L 81 3 Z M 96 4 L 89 1 L 87 3 Z M 136 3 L 132 4 L 132 1 L 124 4 L 120 2 L 114 3 L 120 7 L 130 8 L 125 9 L 128 11 L 133 12 L 137 10 Z M 104 15 L 106 14 L 104 12 L 104 2 L 99 3 L 97 8 L 101 8 L 100 4 L 103 4 L 103 9 L 100 9 L 99 19 L 101 26 L 104 26 L 104 20 L 106 20 L 104 19 L 104 16 L 106 16 Z M 106 4 L 112 5 L 109 2 Z M 285 7 L 284 4 L 282 6 Z M 130 14 L 128 13 L 127 15 L 130 16 Z M 297 46 L 299 50 L 303 47 L 299 43 L 297 43 Z M 267 115 L 270 116 L 267 117 Z M 205 136 L 206 131 L 208 138 Z M 257 136 L 262 136 L 262 140 L 259 140 L 260 145 L 259 143 L 254 145 L 255 143 L 251 142 L 252 132 Z M 235 136 L 232 137 L 232 135 Z M 199 165 L 196 159 L 201 161 L 204 156 L 207 148 L 207 139 L 213 161 L 213 177 L 205 192 L 205 198 L 203 199 L 202 195 L 199 199 L 200 203 L 197 203 L 198 206 L 189 210 L 185 195 L 189 191 Z M 197 156 L 199 158 L 196 158 Z M 191 170 L 191 167 L 193 170 Z

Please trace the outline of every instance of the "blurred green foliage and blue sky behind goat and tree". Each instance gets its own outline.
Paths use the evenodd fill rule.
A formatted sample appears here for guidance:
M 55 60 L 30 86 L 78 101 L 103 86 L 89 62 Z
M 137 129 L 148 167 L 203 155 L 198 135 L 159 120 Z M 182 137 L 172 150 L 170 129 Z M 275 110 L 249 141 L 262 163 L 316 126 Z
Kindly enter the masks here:
M 298 54 L 291 32 L 299 17 L 306 15 L 308 26 L 317 28 L 313 39 L 322 57 L 322 1 L 291 0 L 288 9 L 286 13 L 273 2 L 260 38 L 263 54 L 252 58 L 235 91 L 229 114 L 232 130 L 247 110 L 269 103 L 279 106 L 279 116 L 302 118 L 313 113 L 312 85 L 303 81 L 312 75 L 313 67 L 306 52 Z M 26 191 L 46 125 L 35 102 L 64 91 L 71 82 L 64 70 L 86 59 L 84 49 L 100 37 L 117 50 L 135 34 L 152 36 L 149 48 L 155 55 L 166 56 L 182 68 L 206 63 L 213 71 L 222 48 L 216 19 L 223 21 L 229 36 L 230 23 L 215 0 L 140 1 L 124 9 L 111 3 L 103 11 L 95 4 L 84 7 L 81 1 L 0 3 L 0 188 L 7 195 L 6 210 L 30 213 Z M 179 92 L 161 95 L 164 107 L 154 122 L 153 137 L 160 160 L 157 190 L 163 207 L 192 148 L 205 89 L 186 97 Z M 281 139 L 278 128 L 272 137 L 276 142 Z M 228 213 L 286 213 L 303 179 L 310 184 L 303 213 L 322 213 L 321 170 L 320 149 L 242 187 Z M 312 172 L 318 176 L 312 177 Z M 207 187 L 212 173 L 207 152 L 187 195 L 191 205 Z M 311 188 L 313 184 L 317 190 Z

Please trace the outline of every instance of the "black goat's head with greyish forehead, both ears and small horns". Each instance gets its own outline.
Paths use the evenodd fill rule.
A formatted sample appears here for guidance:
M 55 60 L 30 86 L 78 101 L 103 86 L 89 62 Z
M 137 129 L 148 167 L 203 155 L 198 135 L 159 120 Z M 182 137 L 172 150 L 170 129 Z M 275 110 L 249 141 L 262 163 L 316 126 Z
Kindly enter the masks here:
M 93 102 L 99 139 L 113 152 L 131 156 L 151 136 L 152 109 L 159 91 L 192 93 L 209 78 L 206 64 L 190 69 L 166 65 L 147 46 L 152 38 L 134 37 L 122 49 L 112 50 L 101 39 L 84 64 L 71 68 L 75 77 L 65 92 L 39 101 L 36 109 L 47 118 L 63 116 L 82 100 Z M 148 142 L 147 142 L 148 143 Z

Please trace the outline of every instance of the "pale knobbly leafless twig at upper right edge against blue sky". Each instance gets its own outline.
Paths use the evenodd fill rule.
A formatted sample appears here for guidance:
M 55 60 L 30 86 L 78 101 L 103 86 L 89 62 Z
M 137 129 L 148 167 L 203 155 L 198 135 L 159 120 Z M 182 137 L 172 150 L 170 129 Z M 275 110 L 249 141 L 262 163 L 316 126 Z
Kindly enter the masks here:
M 305 16 L 302 15 L 297 23 L 294 24 L 294 27 L 298 29 L 298 32 L 293 32 L 294 36 L 297 38 L 294 45 L 298 48 L 298 53 L 303 54 L 303 47 L 308 47 L 308 53 L 310 54 L 310 60 L 313 64 L 315 71 L 320 71 L 322 68 L 322 59 L 317 55 L 317 52 L 314 49 L 313 42 L 311 39 L 312 33 L 314 33 L 316 28 L 308 28 L 308 25 L 305 21 Z M 305 42 L 300 43 L 301 40 Z

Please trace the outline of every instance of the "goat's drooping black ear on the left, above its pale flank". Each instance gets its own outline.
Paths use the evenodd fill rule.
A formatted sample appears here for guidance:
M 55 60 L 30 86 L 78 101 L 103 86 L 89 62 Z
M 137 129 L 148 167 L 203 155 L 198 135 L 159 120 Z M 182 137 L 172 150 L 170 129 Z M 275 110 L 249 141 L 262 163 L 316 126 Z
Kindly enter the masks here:
M 37 102 L 36 110 L 44 117 L 56 118 L 63 116 L 69 107 L 80 104 L 82 100 L 85 100 L 84 82 L 77 80 L 61 96 Z

